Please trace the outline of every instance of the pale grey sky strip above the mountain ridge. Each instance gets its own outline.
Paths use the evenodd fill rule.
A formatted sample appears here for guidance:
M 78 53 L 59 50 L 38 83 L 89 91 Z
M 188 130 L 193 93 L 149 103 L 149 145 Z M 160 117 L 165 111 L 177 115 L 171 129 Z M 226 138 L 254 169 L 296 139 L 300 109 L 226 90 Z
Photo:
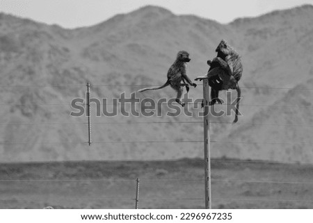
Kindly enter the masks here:
M 225 24 L 238 17 L 256 17 L 305 3 L 313 5 L 313 0 L 0 0 L 0 12 L 64 28 L 77 28 L 153 5 L 167 8 L 177 15 L 197 15 Z

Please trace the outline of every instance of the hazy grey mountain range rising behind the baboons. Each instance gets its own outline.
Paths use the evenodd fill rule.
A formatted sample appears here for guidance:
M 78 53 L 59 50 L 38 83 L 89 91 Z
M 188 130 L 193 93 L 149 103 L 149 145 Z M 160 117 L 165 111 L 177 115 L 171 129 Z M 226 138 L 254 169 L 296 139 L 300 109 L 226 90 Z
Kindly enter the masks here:
M 207 72 L 206 61 L 224 38 L 243 61 L 243 117 L 234 125 L 225 124 L 233 117 L 211 117 L 212 156 L 312 162 L 313 90 L 304 90 L 313 86 L 312 27 L 310 5 L 230 24 L 146 6 L 72 30 L 1 13 L 0 161 L 201 157 L 197 115 L 95 117 L 93 104 L 89 147 L 87 117 L 70 116 L 70 102 L 85 97 L 87 82 L 91 97 L 109 101 L 138 85 L 161 85 L 182 49 L 191 55 L 187 73 L 194 79 Z M 170 99 L 175 92 L 137 95 Z M 189 97 L 202 98 L 202 86 Z

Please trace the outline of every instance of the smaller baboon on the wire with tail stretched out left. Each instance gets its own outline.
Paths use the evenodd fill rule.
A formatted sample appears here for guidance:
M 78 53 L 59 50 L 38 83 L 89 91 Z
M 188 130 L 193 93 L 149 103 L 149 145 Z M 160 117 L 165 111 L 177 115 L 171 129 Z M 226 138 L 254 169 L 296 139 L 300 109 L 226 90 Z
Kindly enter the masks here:
M 179 51 L 177 53 L 177 58 L 175 62 L 172 64 L 172 66 L 170 66 L 170 69 L 168 69 L 168 80 L 166 81 L 166 83 L 158 88 L 143 88 L 141 90 L 138 90 L 138 92 L 144 92 L 146 90 L 158 90 L 170 85 L 170 87 L 172 87 L 172 89 L 177 92 L 177 97 L 175 101 L 184 107 L 185 104 L 181 100 L 184 87 L 186 87 L 186 90 L 188 92 L 189 85 L 192 85 L 194 88 L 197 86 L 191 81 L 191 79 L 188 78 L 186 74 L 186 63 L 188 63 L 190 60 L 191 58 L 189 58 L 189 53 L 187 51 Z

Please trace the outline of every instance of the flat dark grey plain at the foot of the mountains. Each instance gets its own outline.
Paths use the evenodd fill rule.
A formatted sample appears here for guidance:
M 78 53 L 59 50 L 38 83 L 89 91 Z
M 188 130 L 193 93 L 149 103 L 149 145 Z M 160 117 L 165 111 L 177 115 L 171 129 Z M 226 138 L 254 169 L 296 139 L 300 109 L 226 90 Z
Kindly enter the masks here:
M 313 208 L 313 165 L 211 167 L 213 208 Z M 200 159 L 0 164 L 0 208 L 134 208 L 137 177 L 139 208 L 204 208 Z

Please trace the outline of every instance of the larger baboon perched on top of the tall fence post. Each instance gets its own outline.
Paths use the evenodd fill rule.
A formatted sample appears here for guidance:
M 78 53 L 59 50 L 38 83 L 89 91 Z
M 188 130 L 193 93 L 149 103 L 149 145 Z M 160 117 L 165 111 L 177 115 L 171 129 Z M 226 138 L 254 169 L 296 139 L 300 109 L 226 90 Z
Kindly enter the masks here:
M 241 97 L 241 89 L 238 81 L 241 79 L 243 67 L 239 54 L 230 47 L 225 40 L 221 40 L 216 48 L 217 56 L 212 61 L 207 60 L 210 66 L 206 76 L 200 76 L 195 81 L 202 79 L 209 79 L 209 86 L 211 87 L 211 101 L 209 105 L 222 104 L 218 99 L 218 92 L 220 90 L 236 89 L 236 113 L 234 123 L 238 121 L 239 101 Z

